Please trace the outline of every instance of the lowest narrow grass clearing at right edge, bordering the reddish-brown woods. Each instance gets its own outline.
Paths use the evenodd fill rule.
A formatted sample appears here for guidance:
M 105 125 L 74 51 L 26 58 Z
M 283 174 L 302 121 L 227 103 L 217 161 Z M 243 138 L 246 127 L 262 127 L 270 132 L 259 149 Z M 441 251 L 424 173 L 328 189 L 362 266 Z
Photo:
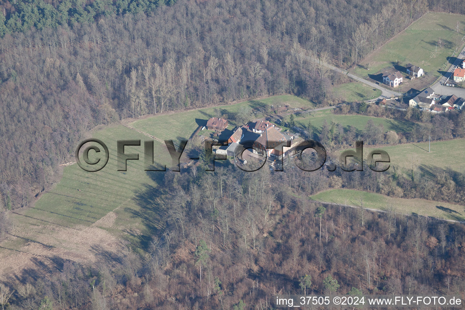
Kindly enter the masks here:
M 465 206 L 425 199 L 388 197 L 368 191 L 334 189 L 322 191 L 310 197 L 312 200 L 348 204 L 364 208 L 388 210 L 391 206 L 397 212 L 416 213 L 434 218 L 465 220 Z

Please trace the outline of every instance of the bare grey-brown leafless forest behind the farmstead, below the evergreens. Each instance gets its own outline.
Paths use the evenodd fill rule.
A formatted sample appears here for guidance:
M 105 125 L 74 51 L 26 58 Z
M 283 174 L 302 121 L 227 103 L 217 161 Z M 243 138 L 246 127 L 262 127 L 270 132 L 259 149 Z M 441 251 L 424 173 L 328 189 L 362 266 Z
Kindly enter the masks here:
M 6 16 L 20 11 L 13 13 L 21 1 L 8 3 Z M 2 208 L 32 204 L 95 125 L 263 94 L 331 102 L 338 76 L 308 57 L 342 66 L 359 61 L 427 8 L 410 4 L 183 0 L 150 13 L 6 33 L 0 39 Z M 392 23 L 393 16 L 402 21 Z

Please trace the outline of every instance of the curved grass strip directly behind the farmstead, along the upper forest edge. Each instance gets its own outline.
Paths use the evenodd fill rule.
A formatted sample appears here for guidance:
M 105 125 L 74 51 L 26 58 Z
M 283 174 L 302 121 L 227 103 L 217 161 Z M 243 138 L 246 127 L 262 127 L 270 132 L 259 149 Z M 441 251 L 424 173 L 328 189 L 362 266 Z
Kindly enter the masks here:
M 308 100 L 292 95 L 281 95 L 260 100 L 244 101 L 230 106 L 179 112 L 175 115 L 157 115 L 148 119 L 137 120 L 132 126 L 160 139 L 177 139 L 178 137 L 188 139 L 200 125 L 206 125 L 207 120 L 214 116 L 215 108 L 220 109 L 221 114 L 227 115 L 230 124 L 236 125 L 234 122 L 234 113 L 238 112 L 240 107 L 249 106 L 252 109 L 258 109 L 265 105 L 274 107 L 288 105 L 290 108 L 312 108 L 314 106 Z M 261 116 L 260 114 L 256 115 L 256 117 Z

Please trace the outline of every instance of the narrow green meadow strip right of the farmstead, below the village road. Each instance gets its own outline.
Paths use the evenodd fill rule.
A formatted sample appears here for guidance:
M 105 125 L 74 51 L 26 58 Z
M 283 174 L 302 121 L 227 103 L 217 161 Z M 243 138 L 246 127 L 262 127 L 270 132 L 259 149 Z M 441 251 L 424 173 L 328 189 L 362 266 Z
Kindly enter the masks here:
M 412 122 L 401 122 L 394 119 L 383 119 L 365 115 L 338 115 L 332 114 L 331 110 L 314 112 L 312 115 L 314 116 L 306 115 L 305 117 L 296 117 L 296 125 L 301 128 L 306 128 L 309 122 L 311 122 L 312 127 L 319 132 L 323 122 L 326 120 L 328 124 L 333 121 L 337 124 L 343 125 L 344 127 L 354 126 L 359 131 L 362 131 L 368 120 L 371 119 L 376 125 L 382 124 L 385 131 L 392 130 L 395 132 L 410 132 L 413 128 Z

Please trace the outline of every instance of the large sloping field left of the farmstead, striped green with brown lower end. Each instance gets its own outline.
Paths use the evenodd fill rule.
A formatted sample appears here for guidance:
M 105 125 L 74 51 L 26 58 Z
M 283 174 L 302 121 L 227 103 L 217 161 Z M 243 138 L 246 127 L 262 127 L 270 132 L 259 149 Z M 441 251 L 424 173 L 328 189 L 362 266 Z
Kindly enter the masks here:
M 133 198 L 146 191 L 146 184 L 153 185 L 153 178 L 165 173 L 144 171 L 143 140 L 147 137 L 110 125 L 95 131 L 93 138 L 108 146 L 108 164 L 98 172 L 86 172 L 77 164 L 66 166 L 60 182 L 43 193 L 35 207 L 11 213 L 12 236 L 1 244 L 10 251 L 2 251 L 1 266 L 14 266 L 12 260 L 27 264 L 28 257 L 37 255 L 92 259 L 90 249 L 95 246 L 116 250 L 120 240 L 126 240 L 137 249 L 147 241 L 150 229 L 158 225 L 156 214 L 151 215 L 149 227 L 146 219 L 137 216 L 141 207 Z M 141 146 L 125 148 L 126 153 L 140 153 L 140 160 L 127 162 L 127 171 L 117 171 L 116 141 L 121 139 L 142 140 Z M 168 162 L 169 154 L 161 152 L 166 148 L 154 143 L 155 158 Z M 89 154 L 92 159 L 92 152 Z

